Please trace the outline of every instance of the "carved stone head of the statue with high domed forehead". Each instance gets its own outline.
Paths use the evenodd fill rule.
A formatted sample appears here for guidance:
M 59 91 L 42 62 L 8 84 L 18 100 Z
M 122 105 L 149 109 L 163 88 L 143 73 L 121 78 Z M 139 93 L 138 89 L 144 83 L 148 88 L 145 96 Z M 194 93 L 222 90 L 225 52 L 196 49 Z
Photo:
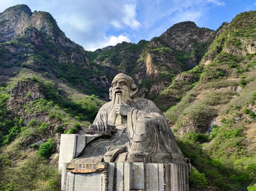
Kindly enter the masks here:
M 130 76 L 120 73 L 115 76 L 112 86 L 109 88 L 109 99 L 115 99 L 116 93 L 122 93 L 123 99 L 133 99 L 137 97 L 137 91 L 138 87 L 135 85 L 133 79 Z

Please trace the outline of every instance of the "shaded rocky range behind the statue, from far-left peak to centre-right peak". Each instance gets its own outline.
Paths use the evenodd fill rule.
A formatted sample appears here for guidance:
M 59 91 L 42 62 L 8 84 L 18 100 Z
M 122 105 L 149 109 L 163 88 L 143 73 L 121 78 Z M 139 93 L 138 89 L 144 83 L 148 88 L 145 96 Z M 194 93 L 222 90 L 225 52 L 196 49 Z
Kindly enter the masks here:
M 175 75 L 199 63 L 214 33 L 194 22 L 181 22 L 151 41 L 89 52 L 68 39 L 50 13 L 32 13 L 27 5 L 16 5 L 0 13 L 2 78 L 30 68 L 108 99 L 113 76 L 122 72 L 140 84 L 141 97 L 153 99 Z

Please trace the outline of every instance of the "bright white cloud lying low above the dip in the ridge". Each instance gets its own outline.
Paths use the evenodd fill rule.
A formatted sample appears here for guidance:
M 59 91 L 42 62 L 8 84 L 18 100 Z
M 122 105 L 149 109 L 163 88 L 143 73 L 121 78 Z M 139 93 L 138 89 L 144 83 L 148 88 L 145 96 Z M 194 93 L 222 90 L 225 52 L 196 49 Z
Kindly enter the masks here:
M 127 34 L 121 34 L 119 36 L 106 36 L 104 35 L 103 39 L 85 46 L 85 50 L 95 51 L 98 48 L 104 48 L 106 46 L 114 46 L 117 43 L 122 43 L 123 41 L 131 42 L 131 39 Z

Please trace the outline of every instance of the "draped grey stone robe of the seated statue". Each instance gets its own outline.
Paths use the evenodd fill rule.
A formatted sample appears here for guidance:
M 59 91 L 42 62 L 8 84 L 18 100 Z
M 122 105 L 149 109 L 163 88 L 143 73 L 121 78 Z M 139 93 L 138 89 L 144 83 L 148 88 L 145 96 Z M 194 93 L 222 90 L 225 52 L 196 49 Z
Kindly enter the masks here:
M 107 122 L 118 129 L 110 138 L 97 138 L 85 146 L 73 162 L 184 163 L 163 113 L 148 100 L 136 98 L 143 110 L 132 108 L 127 116 L 111 121 L 111 102 L 104 104 L 93 124 Z

